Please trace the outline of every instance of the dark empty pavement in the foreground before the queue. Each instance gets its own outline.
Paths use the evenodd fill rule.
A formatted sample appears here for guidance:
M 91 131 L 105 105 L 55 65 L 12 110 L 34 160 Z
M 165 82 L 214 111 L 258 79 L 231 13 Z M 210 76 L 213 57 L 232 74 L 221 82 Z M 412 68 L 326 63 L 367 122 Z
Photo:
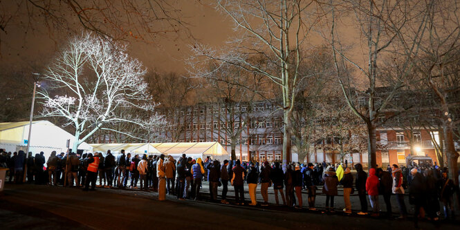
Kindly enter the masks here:
M 177 200 L 174 195 L 167 195 L 167 200 L 160 202 L 158 193 L 137 189 L 97 188 L 84 192 L 81 188 L 7 184 L 0 195 L 0 229 L 414 229 L 411 219 L 309 211 L 306 201 L 304 209 L 212 203 L 207 200 L 207 186 L 203 182 L 202 201 Z M 273 190 L 270 200 L 274 200 L 272 193 Z M 323 198 L 318 195 L 317 207 L 321 208 Z M 336 198 L 336 207 L 341 210 L 342 197 Z M 231 189 L 230 202 L 232 199 Z M 356 201 L 353 206 L 356 212 Z M 460 222 L 420 223 L 421 229 L 459 226 Z

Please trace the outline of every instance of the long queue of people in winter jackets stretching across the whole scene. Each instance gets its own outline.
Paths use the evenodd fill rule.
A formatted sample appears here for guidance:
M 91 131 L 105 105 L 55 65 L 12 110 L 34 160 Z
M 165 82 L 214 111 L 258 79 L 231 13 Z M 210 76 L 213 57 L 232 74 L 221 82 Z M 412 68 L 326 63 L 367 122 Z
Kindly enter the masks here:
M 46 163 L 46 167 L 44 166 Z M 211 202 L 229 204 L 228 186 L 234 188 L 234 204 L 246 204 L 244 183 L 248 184 L 250 206 L 257 205 L 256 193 L 260 186 L 263 197 L 261 206 L 268 206 L 268 189 L 273 187 L 275 204 L 302 209 L 302 190 L 306 190 L 308 208 L 316 210 L 315 197 L 318 186 L 326 195 L 323 213 L 336 211 L 334 198 L 338 188 L 343 188 L 344 213 L 352 213 L 350 195 L 358 193 L 360 211 L 358 215 L 367 215 L 369 200 L 371 216 L 380 215 L 378 198 L 383 196 L 386 213 L 392 217 L 392 195 L 398 202 L 400 219 L 407 218 L 404 195 L 409 191 L 409 202 L 414 205 L 414 220 L 425 216 L 429 220 L 439 220 L 441 211 L 444 218 L 454 218 L 454 193 L 459 187 L 448 178 L 448 168 L 438 166 L 414 166 L 399 168 L 394 164 L 386 170 L 370 168 L 369 174 L 356 163 L 356 175 L 353 176 L 348 163 L 291 163 L 283 170 L 279 162 L 268 163 L 224 160 L 222 163 L 207 157 L 192 159 L 183 154 L 178 160 L 164 154 L 149 155 L 125 153 L 125 150 L 113 156 L 107 151 L 94 154 L 75 154 L 51 152 L 45 161 L 44 152 L 35 154 L 24 151 L 4 152 L 0 149 L 0 166 L 8 167 L 9 182 L 49 184 L 53 186 L 81 186 L 83 191 L 95 190 L 99 179 L 100 186 L 107 188 L 138 188 L 158 192 L 158 200 L 165 200 L 165 195 L 176 195 L 178 200 L 201 200 L 201 183 L 209 182 Z M 91 186 L 90 186 L 91 185 Z M 218 187 L 221 196 L 218 200 Z M 281 198 L 281 199 L 279 199 Z M 442 210 L 440 206 L 442 203 Z

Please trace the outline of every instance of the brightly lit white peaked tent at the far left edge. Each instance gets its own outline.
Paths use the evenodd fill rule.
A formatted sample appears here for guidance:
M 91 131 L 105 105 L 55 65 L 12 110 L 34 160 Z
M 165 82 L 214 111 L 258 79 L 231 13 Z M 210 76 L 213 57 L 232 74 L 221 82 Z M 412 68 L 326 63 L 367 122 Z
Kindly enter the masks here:
M 28 121 L 0 123 L 0 148 L 8 152 L 19 150 L 26 152 L 28 134 Z M 43 151 L 45 158 L 48 159 L 52 151 L 56 151 L 57 154 L 66 152 L 67 140 L 70 140 L 69 146 L 72 146 L 74 139 L 75 136 L 49 121 L 33 121 L 29 152 L 35 155 Z M 81 143 L 78 149 L 91 151 L 93 148 L 87 143 Z

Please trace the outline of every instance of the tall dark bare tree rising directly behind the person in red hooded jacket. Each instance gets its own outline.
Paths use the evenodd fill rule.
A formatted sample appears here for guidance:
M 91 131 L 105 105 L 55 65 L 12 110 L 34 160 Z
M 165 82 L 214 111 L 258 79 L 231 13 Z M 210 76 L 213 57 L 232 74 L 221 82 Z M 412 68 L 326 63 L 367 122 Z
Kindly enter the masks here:
M 409 73 L 414 67 L 414 57 L 419 51 L 426 31 L 425 24 L 433 2 L 369 0 L 343 3 L 340 1 L 342 5 L 332 5 L 329 41 L 337 69 L 336 76 L 349 107 L 367 125 L 368 157 L 371 167 L 376 167 L 378 116 L 409 78 Z M 353 24 L 358 25 L 362 42 L 366 44 L 362 49 L 367 53 L 367 67 L 360 64 L 360 57 L 353 58 L 345 49 L 347 46 L 341 39 L 343 35 L 340 35 L 336 20 L 339 9 L 356 16 Z M 357 82 L 362 80 L 350 76 L 347 69 L 351 67 L 357 70 L 358 75 L 365 77 L 365 112 L 360 111 L 355 103 L 356 98 L 353 98 L 356 94 L 354 91 L 362 88 L 356 87 L 360 85 Z M 342 68 L 345 71 L 342 71 Z M 383 74 L 385 68 L 398 71 L 393 71 L 393 76 L 386 76 Z M 379 94 L 378 87 L 386 87 L 385 94 Z

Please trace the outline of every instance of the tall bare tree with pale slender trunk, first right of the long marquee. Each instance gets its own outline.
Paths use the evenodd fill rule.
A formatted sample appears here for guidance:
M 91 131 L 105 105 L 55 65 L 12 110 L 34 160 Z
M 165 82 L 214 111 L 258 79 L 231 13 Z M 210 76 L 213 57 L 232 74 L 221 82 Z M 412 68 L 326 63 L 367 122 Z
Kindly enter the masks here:
M 197 57 L 255 71 L 279 86 L 282 91 L 280 109 L 284 113 L 284 168 L 291 160 L 291 118 L 297 84 L 302 78 L 308 78 L 298 71 L 303 62 L 301 48 L 319 22 L 319 5 L 318 1 L 218 0 L 217 10 L 234 21 L 241 36 L 233 39 L 223 54 L 206 46 L 194 46 Z M 250 62 L 252 55 L 264 57 L 264 64 Z

